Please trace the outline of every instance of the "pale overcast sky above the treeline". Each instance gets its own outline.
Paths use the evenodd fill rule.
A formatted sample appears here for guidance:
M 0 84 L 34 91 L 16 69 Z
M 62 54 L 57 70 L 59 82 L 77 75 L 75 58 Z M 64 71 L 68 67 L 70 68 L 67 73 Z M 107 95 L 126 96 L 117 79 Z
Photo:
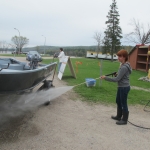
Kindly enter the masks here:
M 19 35 L 28 46 L 96 45 L 94 32 L 104 32 L 112 0 L 0 0 L 0 41 L 11 43 Z M 123 35 L 131 32 L 131 19 L 150 23 L 150 0 L 117 0 Z M 42 36 L 44 35 L 44 37 Z M 123 40 L 123 44 L 127 44 Z

